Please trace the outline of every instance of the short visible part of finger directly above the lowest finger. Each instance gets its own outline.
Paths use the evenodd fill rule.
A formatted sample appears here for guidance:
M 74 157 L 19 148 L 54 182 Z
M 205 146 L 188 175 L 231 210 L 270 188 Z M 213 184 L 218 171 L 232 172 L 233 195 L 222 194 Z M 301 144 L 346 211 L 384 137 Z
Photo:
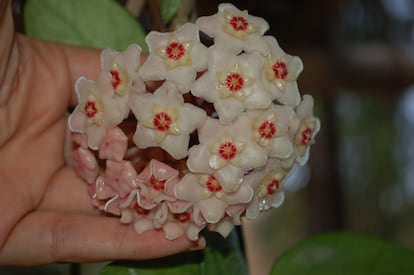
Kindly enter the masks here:
M 76 175 L 72 167 L 65 167 L 48 184 L 38 209 L 99 214 L 92 205 L 87 188 L 88 184 Z

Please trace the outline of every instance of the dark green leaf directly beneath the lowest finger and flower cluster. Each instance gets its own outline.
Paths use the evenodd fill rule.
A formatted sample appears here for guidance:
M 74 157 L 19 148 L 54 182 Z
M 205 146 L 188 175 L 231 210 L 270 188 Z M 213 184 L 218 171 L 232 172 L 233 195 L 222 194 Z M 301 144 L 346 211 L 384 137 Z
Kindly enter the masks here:
M 207 247 L 155 260 L 107 265 L 100 275 L 243 275 L 246 265 L 235 233 L 227 239 L 214 232 L 204 232 Z

